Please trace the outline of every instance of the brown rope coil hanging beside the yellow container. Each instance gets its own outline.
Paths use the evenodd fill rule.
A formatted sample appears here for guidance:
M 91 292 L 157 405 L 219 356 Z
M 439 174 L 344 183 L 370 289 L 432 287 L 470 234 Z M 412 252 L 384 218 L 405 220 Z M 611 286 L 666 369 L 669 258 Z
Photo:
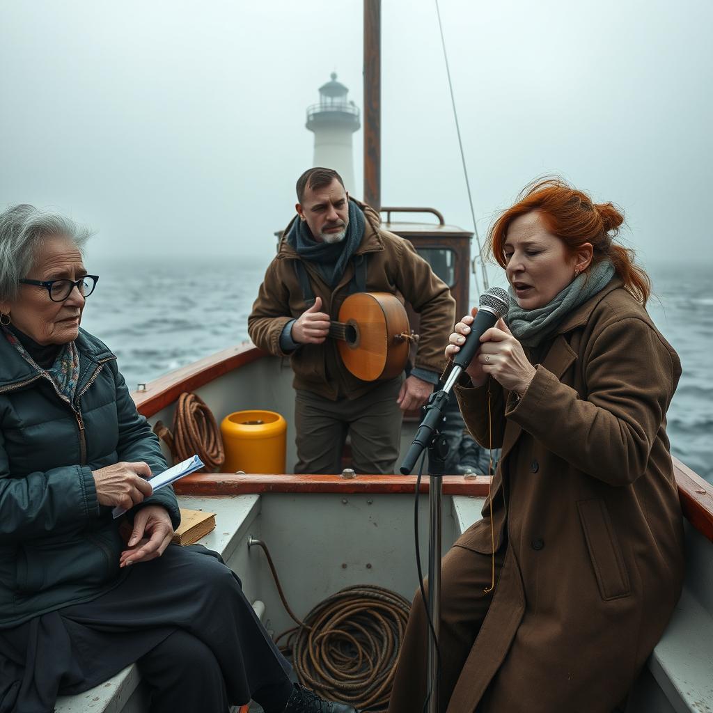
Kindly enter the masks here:
M 225 462 L 220 429 L 215 416 L 196 394 L 183 392 L 173 414 L 173 433 L 161 422 L 154 432 L 168 443 L 176 463 L 198 455 L 208 473 L 215 473 Z

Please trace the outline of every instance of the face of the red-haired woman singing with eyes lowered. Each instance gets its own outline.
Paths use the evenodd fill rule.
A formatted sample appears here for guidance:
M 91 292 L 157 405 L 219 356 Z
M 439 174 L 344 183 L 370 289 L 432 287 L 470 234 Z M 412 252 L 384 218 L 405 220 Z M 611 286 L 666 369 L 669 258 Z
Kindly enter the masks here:
M 562 240 L 545 230 L 535 211 L 511 222 L 503 248 L 508 282 L 523 309 L 551 302 L 574 279 L 575 265 L 582 263 L 578 255 L 569 254 Z

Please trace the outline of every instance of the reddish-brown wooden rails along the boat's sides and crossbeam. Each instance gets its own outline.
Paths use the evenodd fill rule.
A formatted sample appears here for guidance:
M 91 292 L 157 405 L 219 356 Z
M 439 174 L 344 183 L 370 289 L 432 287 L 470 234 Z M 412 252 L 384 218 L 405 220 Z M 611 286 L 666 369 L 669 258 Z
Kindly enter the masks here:
M 243 344 L 206 356 L 182 369 L 160 376 L 132 396 L 140 414 L 150 418 L 178 400 L 184 391 L 195 391 L 211 381 L 268 356 L 267 352 Z M 678 458 L 673 458 L 682 511 L 692 527 L 713 542 L 713 484 L 705 481 Z M 484 497 L 488 476 L 446 476 L 443 493 Z M 421 492 L 428 492 L 428 479 Z M 244 493 L 412 493 L 413 476 L 242 475 L 235 473 L 195 473 L 177 484 L 178 493 L 194 495 L 240 495 Z

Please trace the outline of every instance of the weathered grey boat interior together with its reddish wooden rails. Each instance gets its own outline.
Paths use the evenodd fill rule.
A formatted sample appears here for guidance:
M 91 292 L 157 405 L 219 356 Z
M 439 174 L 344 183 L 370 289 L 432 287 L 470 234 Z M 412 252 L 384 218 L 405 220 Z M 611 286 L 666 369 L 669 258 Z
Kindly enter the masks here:
M 183 391 L 201 396 L 219 422 L 241 409 L 270 409 L 289 416 L 294 403 L 287 361 L 266 356 L 250 345 L 232 347 L 180 369 L 134 396 L 140 412 L 152 423 L 160 419 L 170 424 L 175 401 Z M 295 456 L 291 421 L 288 418 L 288 464 Z M 414 426 L 405 424 L 404 449 Z M 670 625 L 632 690 L 627 713 L 713 712 L 713 488 L 683 463 L 674 460 L 674 466 L 687 518 L 687 579 Z M 177 491 L 182 506 L 217 513 L 215 530 L 202 542 L 222 553 L 242 578 L 256 609 L 265 612 L 267 629 L 279 633 L 291 621 L 264 555 L 257 548 L 251 551 L 247 538 L 259 536 L 270 546 L 297 615 L 305 615 L 339 588 L 361 581 L 387 586 L 410 598 L 416 588 L 414 483 L 414 478 L 405 476 L 345 480 L 289 473 L 212 473 L 188 476 Z M 424 478 L 422 492 L 427 485 Z M 487 489 L 485 476 L 444 478 L 444 550 L 480 517 Z M 421 541 L 425 543 L 427 498 L 421 500 Z M 385 547 L 391 540 L 394 546 Z M 56 710 L 145 713 L 147 708 L 138 673 L 129 667 L 86 694 L 60 699 Z

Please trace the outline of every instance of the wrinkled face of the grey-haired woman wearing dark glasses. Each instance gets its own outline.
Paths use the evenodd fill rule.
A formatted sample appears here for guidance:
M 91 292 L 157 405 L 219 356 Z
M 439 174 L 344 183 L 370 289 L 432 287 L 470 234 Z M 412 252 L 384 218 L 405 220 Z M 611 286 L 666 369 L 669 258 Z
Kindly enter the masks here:
M 30 274 L 22 277 L 75 280 L 86 274 L 74 242 L 63 235 L 53 235 L 43 241 Z M 21 284 L 18 298 L 1 304 L 0 309 L 10 314 L 14 327 L 38 344 L 66 344 L 79 334 L 84 297 L 73 287 L 63 302 L 52 302 L 46 287 Z

